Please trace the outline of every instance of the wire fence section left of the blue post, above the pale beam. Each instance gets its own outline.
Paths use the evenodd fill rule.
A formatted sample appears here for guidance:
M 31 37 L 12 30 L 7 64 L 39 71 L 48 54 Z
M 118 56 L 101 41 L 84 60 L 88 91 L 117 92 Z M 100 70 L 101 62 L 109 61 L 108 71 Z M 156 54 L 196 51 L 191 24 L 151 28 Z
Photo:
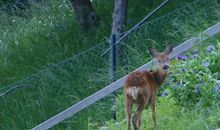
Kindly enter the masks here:
M 19 121 L 26 120 L 24 128 L 30 129 L 29 123 L 38 124 L 107 85 L 108 57 L 100 57 L 107 47 L 107 44 L 99 44 L 64 64 L 57 64 L 18 82 L 29 86 L 1 98 L 1 122 L 8 117 L 13 118 L 7 114 L 14 109 L 18 113 L 14 119 L 18 120 L 10 127 L 15 128 Z M 11 103 L 17 105 L 8 105 Z M 8 127 L 1 126 L 1 129 Z

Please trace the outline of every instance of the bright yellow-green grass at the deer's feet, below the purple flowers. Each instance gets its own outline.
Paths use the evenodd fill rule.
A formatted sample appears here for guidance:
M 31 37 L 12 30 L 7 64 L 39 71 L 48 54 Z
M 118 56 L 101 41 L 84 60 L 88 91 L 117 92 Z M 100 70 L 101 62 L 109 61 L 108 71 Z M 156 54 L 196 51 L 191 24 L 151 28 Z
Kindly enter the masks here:
M 158 130 L 210 130 L 219 127 L 219 105 L 208 109 L 197 108 L 191 110 L 176 105 L 174 99 L 159 97 L 156 106 L 157 129 Z M 95 128 L 90 124 L 90 130 L 126 130 L 126 120 L 108 121 L 105 126 Z M 145 110 L 142 113 L 141 130 L 153 128 L 151 111 Z

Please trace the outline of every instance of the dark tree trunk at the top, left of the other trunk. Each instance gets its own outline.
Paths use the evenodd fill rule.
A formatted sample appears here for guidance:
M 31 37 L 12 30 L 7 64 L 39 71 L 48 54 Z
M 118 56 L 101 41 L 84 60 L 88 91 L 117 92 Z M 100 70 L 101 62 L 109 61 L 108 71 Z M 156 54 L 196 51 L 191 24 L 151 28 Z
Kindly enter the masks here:
M 90 0 L 71 0 L 71 4 L 83 31 L 99 24 L 99 17 L 95 14 Z

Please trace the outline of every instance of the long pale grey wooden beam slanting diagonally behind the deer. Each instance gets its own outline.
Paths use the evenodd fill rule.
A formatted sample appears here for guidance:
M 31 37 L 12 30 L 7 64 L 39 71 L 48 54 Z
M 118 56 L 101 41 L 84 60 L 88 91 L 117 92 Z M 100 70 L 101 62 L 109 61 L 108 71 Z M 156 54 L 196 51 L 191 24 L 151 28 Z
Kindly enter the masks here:
M 208 28 L 203 33 L 201 33 L 198 37 L 190 38 L 189 40 L 183 42 L 182 44 L 178 45 L 174 48 L 173 53 L 171 54 L 172 57 L 175 57 L 186 50 L 190 49 L 193 45 L 195 45 L 196 41 L 203 41 L 207 39 L 210 36 L 215 35 L 216 33 L 220 32 L 220 23 L 217 23 L 216 25 Z M 146 70 L 150 69 L 152 67 L 153 61 L 148 62 L 147 64 L 139 67 L 136 70 Z M 77 112 L 81 111 L 82 109 L 85 109 L 86 107 L 90 106 L 91 104 L 94 104 L 95 102 L 99 101 L 100 99 L 103 99 L 107 95 L 115 92 L 116 90 L 120 89 L 125 79 L 127 78 L 127 75 L 120 78 L 119 80 L 113 82 L 112 84 L 106 86 L 105 88 L 99 90 L 95 94 L 85 98 L 84 100 L 76 103 L 75 105 L 69 107 L 68 109 L 64 110 L 63 112 L 55 115 L 54 117 L 48 119 L 47 121 L 39 124 L 38 126 L 34 127 L 32 130 L 46 130 L 54 125 L 60 123 L 61 121 L 73 116 Z

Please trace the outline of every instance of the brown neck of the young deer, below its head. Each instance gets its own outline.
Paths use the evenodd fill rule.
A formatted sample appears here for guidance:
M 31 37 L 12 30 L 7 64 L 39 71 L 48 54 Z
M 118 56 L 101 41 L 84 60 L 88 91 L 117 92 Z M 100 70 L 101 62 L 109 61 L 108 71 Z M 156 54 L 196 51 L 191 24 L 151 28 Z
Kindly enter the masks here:
M 160 87 L 167 77 L 167 72 L 157 69 L 156 71 L 153 72 L 153 77 L 157 84 L 157 87 Z

